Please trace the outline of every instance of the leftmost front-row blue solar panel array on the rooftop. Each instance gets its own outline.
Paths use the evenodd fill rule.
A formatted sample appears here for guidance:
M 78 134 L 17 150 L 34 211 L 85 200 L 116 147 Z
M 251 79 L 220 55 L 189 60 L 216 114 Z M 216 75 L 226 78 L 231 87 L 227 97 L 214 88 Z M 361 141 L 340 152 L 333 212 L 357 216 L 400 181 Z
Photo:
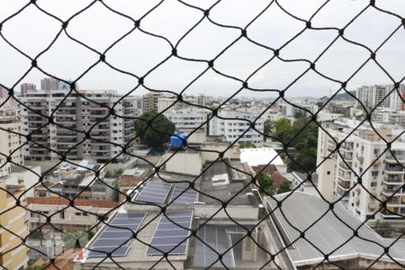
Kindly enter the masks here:
M 115 215 L 95 238 L 89 247 L 90 253 L 87 257 L 106 257 L 107 253 L 112 253 L 112 257 L 125 256 L 130 249 L 133 232 L 139 229 L 145 216 L 146 212 L 118 213 Z

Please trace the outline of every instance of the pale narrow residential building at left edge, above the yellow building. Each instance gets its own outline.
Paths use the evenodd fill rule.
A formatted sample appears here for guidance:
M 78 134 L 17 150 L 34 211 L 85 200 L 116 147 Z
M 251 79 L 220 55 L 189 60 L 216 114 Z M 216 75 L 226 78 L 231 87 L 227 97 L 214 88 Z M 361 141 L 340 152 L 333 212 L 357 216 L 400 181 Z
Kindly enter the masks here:
M 0 107 L 0 176 L 11 173 L 11 166 L 23 165 L 23 124 L 18 103 L 8 101 Z M 7 162 L 7 157 L 11 160 Z

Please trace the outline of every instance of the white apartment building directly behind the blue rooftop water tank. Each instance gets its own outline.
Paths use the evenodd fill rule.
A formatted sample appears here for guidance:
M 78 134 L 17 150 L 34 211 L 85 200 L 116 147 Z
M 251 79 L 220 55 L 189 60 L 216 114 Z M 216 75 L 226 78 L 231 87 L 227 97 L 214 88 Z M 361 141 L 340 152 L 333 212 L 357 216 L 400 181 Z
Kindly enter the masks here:
M 207 121 L 208 112 L 211 111 L 200 107 L 186 106 L 166 111 L 164 115 L 175 124 L 176 130 L 184 130 L 200 127 L 204 121 Z

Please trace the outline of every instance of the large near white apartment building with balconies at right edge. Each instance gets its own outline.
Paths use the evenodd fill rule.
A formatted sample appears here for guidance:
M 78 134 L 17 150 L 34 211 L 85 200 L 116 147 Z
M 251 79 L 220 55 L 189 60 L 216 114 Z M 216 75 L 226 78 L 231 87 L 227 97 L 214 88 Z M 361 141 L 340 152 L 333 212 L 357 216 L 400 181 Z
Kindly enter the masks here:
M 395 139 L 401 130 L 373 123 L 384 139 L 395 139 L 392 152 L 397 162 L 386 151 L 383 139 L 366 123 L 357 128 L 359 123 L 341 119 L 323 123 L 326 131 L 319 129 L 317 164 L 323 162 L 317 169 L 320 193 L 329 201 L 343 197 L 347 209 L 360 220 L 401 220 L 399 215 L 405 214 L 405 189 L 402 187 L 405 183 L 405 136 Z M 338 143 L 345 140 L 339 148 L 340 155 L 338 151 L 331 154 L 337 147 L 334 139 Z M 361 176 L 363 186 L 357 184 L 358 176 Z M 392 194 L 392 199 L 388 200 Z M 382 202 L 388 200 L 383 211 L 378 211 L 381 203 L 374 197 Z

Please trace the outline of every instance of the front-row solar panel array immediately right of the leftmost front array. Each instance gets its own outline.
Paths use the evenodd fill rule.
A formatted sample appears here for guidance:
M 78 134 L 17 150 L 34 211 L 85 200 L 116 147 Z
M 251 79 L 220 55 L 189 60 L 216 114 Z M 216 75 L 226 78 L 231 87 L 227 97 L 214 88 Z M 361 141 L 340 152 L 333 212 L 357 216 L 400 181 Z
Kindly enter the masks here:
M 166 216 L 162 215 L 157 224 L 147 255 L 161 256 L 166 252 L 170 255 L 184 255 L 192 220 L 193 211 L 166 211 Z

